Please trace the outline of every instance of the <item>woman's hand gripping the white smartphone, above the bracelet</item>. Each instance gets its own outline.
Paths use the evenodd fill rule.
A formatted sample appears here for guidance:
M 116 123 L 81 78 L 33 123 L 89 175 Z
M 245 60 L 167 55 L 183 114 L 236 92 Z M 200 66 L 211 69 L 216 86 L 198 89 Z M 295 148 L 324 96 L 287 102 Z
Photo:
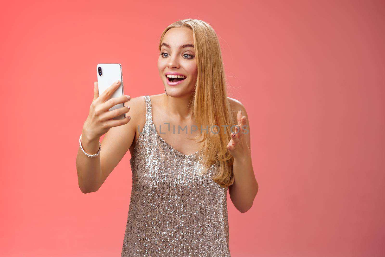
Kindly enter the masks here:
M 130 116 L 124 119 L 112 119 L 127 113 L 130 110 L 128 106 L 109 111 L 116 104 L 121 104 L 131 99 L 130 96 L 119 96 L 107 100 L 120 84 L 119 80 L 114 82 L 99 96 L 98 83 L 94 82 L 94 100 L 91 103 L 90 112 L 83 125 L 83 133 L 87 133 L 88 138 L 100 138 L 110 128 L 127 124 L 130 121 Z

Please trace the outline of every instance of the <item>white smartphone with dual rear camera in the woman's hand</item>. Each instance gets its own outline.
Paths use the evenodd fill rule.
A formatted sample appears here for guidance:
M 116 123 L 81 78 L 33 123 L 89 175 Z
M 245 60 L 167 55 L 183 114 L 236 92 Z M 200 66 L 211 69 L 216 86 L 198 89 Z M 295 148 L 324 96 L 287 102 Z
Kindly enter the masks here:
M 97 82 L 99 87 L 99 96 L 104 92 L 108 87 L 110 87 L 118 79 L 121 81 L 121 85 L 112 93 L 108 98 L 114 98 L 119 96 L 124 96 L 123 88 L 123 72 L 122 66 L 119 63 L 100 63 L 96 66 L 97 70 Z M 107 99 L 107 100 L 108 100 Z M 124 103 L 117 104 L 112 106 L 109 111 L 112 111 L 117 108 L 124 107 Z M 126 113 L 116 116 L 112 119 L 124 119 L 126 118 Z

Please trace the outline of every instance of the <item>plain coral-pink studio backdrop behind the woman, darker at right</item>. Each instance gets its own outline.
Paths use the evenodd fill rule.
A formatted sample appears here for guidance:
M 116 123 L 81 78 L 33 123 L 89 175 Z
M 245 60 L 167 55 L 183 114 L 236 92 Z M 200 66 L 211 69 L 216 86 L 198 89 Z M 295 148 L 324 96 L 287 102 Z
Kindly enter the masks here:
M 121 63 L 131 97 L 162 93 L 161 32 L 198 18 L 252 132 L 259 192 L 246 213 L 228 197 L 232 256 L 384 256 L 384 15 L 383 1 L 2 2 L 0 255 L 120 256 L 130 154 L 99 191 L 77 185 L 95 66 Z

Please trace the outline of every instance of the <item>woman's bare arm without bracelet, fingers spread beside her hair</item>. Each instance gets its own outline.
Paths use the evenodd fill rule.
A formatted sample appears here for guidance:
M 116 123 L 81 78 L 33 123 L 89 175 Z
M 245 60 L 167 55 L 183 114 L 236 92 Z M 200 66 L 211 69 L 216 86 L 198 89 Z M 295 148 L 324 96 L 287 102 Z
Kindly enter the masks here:
M 230 98 L 231 99 L 231 98 Z M 234 183 L 229 186 L 229 195 L 234 206 L 239 212 L 247 212 L 253 205 L 254 198 L 258 192 L 253 163 L 251 161 L 250 127 L 248 115 L 243 104 L 231 99 L 232 109 L 239 110 L 237 120 L 240 129 L 232 136 L 228 149 L 234 157 L 233 175 Z

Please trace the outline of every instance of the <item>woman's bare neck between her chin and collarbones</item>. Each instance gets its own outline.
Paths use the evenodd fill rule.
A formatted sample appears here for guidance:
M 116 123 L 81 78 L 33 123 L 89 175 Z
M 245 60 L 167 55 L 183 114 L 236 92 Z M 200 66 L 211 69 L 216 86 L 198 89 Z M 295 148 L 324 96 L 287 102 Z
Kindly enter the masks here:
M 192 94 L 187 94 L 181 97 L 172 97 L 166 96 L 164 94 L 163 104 L 167 113 L 172 116 L 177 116 L 181 120 L 191 119 L 192 116 L 192 106 L 190 105 L 190 101 L 192 99 Z

